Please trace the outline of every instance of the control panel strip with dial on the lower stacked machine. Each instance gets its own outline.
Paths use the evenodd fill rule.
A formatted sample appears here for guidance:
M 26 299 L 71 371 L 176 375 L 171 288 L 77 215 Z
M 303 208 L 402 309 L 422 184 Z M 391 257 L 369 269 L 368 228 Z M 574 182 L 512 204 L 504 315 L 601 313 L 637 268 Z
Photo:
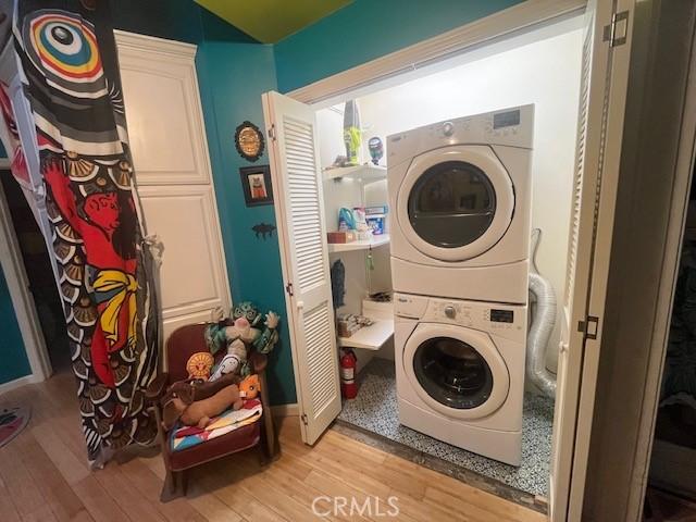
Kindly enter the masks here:
M 445 323 L 520 340 L 526 337 L 527 307 L 395 294 L 398 318 Z

